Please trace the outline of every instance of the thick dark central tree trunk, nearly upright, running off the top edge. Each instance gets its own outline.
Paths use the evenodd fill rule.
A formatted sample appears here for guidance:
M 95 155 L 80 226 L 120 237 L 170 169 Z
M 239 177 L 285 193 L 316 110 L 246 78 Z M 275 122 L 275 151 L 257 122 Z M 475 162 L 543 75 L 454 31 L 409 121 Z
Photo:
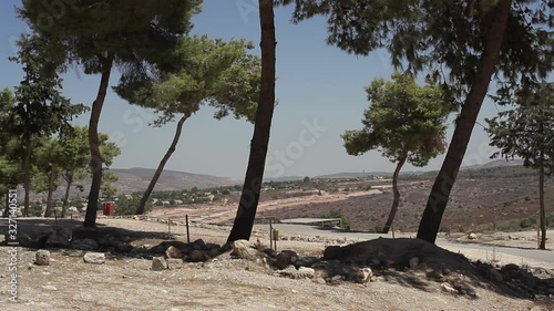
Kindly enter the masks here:
M 274 1 L 259 0 L 259 22 L 261 28 L 261 89 L 256 110 L 254 135 L 250 142 L 250 156 L 238 204 L 235 222 L 227 241 L 250 238 L 259 193 L 264 179 L 267 146 L 275 107 L 275 15 Z

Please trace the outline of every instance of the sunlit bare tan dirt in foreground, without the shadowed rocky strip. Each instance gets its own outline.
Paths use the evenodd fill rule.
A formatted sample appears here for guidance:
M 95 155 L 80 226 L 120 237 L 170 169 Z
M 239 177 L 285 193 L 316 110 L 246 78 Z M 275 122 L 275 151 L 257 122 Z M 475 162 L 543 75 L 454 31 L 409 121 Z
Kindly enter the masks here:
M 20 221 L 22 224 L 24 221 Z M 41 220 L 40 226 L 53 227 Z M 122 228 L 134 246 L 151 247 L 165 240 L 167 225 L 132 219 L 99 219 L 99 225 Z M 80 226 L 64 220 L 61 226 Z M 31 227 L 20 225 L 21 232 Z M 185 229 L 173 227 L 185 240 Z M 227 227 L 194 226 L 192 239 L 223 243 Z M 265 235 L 256 238 L 264 242 Z M 320 256 L 326 242 L 279 241 L 281 249 Z M 0 248 L 1 296 L 9 298 L 8 247 Z M 554 299 L 535 301 L 476 288 L 476 298 L 450 294 L 437 287 L 413 287 L 400 279 L 367 284 L 322 284 L 274 276 L 256 262 L 232 259 L 228 253 L 205 263 L 151 271 L 151 260 L 106 253 L 105 265 L 83 262 L 83 251 L 52 250 L 48 267 L 34 266 L 34 250 L 19 249 L 19 303 L 2 310 L 554 310 Z M 8 304 L 10 303 L 10 304 Z M 4 309 L 6 308 L 6 309 Z

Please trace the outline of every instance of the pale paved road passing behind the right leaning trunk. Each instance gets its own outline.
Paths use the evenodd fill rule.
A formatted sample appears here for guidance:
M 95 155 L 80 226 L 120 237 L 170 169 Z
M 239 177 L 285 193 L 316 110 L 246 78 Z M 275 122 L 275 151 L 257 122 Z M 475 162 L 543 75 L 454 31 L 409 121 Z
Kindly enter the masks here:
M 268 225 L 256 225 L 256 228 L 260 229 L 267 229 Z M 320 236 L 325 238 L 337 238 L 337 239 L 352 239 L 352 240 L 370 240 L 370 239 L 377 239 L 379 237 L 383 238 L 391 238 L 392 235 L 380 235 L 380 234 L 367 234 L 367 232 L 345 232 L 341 230 L 334 230 L 334 229 L 322 229 L 319 227 L 312 227 L 312 226 L 302 226 L 302 225 L 288 225 L 288 224 L 276 224 L 274 225 L 274 228 L 277 228 L 280 232 L 287 232 L 289 235 L 306 235 L 306 236 Z M 403 234 L 401 232 L 400 235 L 396 236 L 397 238 L 399 237 L 404 237 L 404 238 L 413 238 L 413 234 Z M 509 255 L 509 256 L 514 256 L 516 258 L 520 258 L 521 261 L 527 261 L 527 260 L 533 260 L 533 261 L 540 261 L 540 262 L 547 262 L 551 265 L 554 265 L 554 252 L 552 250 L 537 250 L 537 249 L 527 249 L 527 248 L 516 248 L 516 247 L 503 247 L 503 246 L 492 246 L 492 245 L 482 245 L 482 243 L 474 243 L 474 242 L 452 242 L 448 241 L 445 239 L 439 238 L 437 240 L 437 245 L 447 248 L 450 251 L 454 252 L 462 252 L 464 253 L 465 251 L 469 250 L 478 250 L 482 251 L 483 256 L 491 256 L 492 253 L 495 252 L 497 258 L 501 258 L 502 255 Z M 548 246 L 547 246 L 548 247 Z M 552 248 L 552 246 L 551 246 Z M 485 259 L 485 258 L 483 258 Z M 520 262 L 514 262 L 514 263 L 520 263 Z

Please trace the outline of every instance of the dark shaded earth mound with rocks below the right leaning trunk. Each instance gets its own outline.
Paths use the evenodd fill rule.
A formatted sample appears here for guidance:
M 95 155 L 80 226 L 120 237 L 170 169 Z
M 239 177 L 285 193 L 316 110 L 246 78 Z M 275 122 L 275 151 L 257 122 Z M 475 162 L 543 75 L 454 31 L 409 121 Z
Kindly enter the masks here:
M 484 289 L 554 307 L 551 296 L 554 294 L 554 271 L 537 268 L 532 273 L 516 265 L 494 267 L 472 262 L 460 253 L 423 240 L 379 238 L 345 247 L 328 247 L 324 260 L 327 261 L 324 269 L 331 278 L 342 274 L 348 280 L 348 276 L 356 276 L 357 270 L 369 267 L 379 280 L 427 292 L 440 290 L 479 299 L 476 289 Z

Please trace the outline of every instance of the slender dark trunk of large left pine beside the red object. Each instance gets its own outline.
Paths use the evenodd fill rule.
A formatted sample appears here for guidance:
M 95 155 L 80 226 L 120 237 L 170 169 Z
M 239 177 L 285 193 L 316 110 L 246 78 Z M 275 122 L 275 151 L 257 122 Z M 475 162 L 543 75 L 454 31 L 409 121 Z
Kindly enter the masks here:
M 86 214 L 84 216 L 84 227 L 96 226 L 96 214 L 99 205 L 100 184 L 102 183 L 102 158 L 100 156 L 99 142 L 99 121 L 102 113 L 102 106 L 110 85 L 110 73 L 112 71 L 114 54 L 109 53 L 103 60 L 102 77 L 100 80 L 99 93 L 96 100 L 92 103 L 91 120 L 89 122 L 89 145 L 91 147 L 91 169 L 92 184 L 89 193 L 89 204 L 86 205 Z

